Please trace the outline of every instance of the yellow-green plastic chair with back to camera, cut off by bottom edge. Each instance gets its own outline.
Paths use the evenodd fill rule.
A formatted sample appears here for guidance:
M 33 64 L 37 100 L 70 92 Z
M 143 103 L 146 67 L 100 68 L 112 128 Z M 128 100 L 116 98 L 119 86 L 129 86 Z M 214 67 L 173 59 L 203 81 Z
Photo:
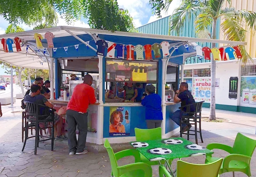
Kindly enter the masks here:
M 208 164 L 193 164 L 177 161 L 176 177 L 219 177 L 219 169 L 223 159 Z M 159 177 L 172 177 L 163 165 L 159 166 Z

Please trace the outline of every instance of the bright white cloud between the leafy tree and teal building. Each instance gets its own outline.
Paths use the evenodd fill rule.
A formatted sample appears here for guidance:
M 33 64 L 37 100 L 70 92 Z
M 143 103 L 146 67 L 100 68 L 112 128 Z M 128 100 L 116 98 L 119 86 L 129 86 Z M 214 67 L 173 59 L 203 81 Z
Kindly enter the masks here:
M 133 18 L 135 27 L 142 25 L 141 21 L 151 13 L 149 0 L 117 0 L 119 8 L 127 9 Z

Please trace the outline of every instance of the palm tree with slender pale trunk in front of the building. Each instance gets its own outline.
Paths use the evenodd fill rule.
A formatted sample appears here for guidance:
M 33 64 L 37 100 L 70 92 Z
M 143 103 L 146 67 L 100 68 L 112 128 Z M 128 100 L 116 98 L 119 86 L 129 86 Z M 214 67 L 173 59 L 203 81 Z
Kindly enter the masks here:
M 165 3 L 159 0 L 150 0 L 155 14 L 160 16 L 161 10 L 168 10 L 173 0 L 166 0 Z M 224 33 L 224 37 L 230 41 L 245 41 L 246 30 L 256 30 L 256 13 L 248 10 L 236 10 L 231 7 L 231 0 L 227 0 L 230 7 L 223 8 L 226 0 L 181 0 L 181 5 L 175 9 L 174 14 L 170 17 L 170 31 L 179 31 L 184 27 L 186 18 L 190 18 L 193 14 L 196 15 L 195 26 L 196 33 L 212 27 L 212 39 L 216 39 L 216 24 L 221 19 L 220 27 Z M 212 43 L 212 47 L 216 44 Z M 239 46 L 241 49 L 243 64 L 248 60 L 252 60 L 244 46 Z M 216 63 L 211 58 L 211 103 L 210 103 L 210 120 L 215 120 L 215 73 Z

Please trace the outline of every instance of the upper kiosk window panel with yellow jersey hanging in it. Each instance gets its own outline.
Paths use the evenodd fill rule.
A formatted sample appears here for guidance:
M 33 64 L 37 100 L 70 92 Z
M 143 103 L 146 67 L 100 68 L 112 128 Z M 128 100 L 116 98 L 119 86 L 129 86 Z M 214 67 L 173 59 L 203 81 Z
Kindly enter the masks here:
M 106 81 L 157 83 L 158 62 L 106 60 Z

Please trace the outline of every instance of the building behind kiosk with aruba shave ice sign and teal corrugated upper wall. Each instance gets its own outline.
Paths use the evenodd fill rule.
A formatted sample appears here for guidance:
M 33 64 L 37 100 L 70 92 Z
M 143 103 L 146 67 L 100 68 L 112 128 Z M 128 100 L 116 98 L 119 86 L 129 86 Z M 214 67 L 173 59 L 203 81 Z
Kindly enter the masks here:
M 229 4 L 226 3 L 225 6 Z M 232 0 L 231 6 L 236 9 L 248 9 L 256 11 L 256 2 Z M 138 28 L 139 32 L 149 34 L 168 35 L 170 16 L 159 19 L 155 22 L 143 25 Z M 185 28 L 180 36 L 196 37 L 195 16 L 185 21 Z M 224 40 L 223 32 L 220 30 L 218 21 L 217 39 Z M 211 28 L 209 27 L 211 32 Z M 256 36 L 255 31 L 247 32 L 246 49 L 253 62 L 249 61 L 242 66 L 237 60 L 216 62 L 216 109 L 248 112 L 256 114 Z M 175 32 L 171 33 L 176 36 Z M 211 48 L 210 43 L 198 44 Z M 205 101 L 203 107 L 210 107 L 211 95 L 211 63 L 210 60 L 197 57 L 187 58 L 184 63 L 184 82 L 189 84 L 196 101 Z

